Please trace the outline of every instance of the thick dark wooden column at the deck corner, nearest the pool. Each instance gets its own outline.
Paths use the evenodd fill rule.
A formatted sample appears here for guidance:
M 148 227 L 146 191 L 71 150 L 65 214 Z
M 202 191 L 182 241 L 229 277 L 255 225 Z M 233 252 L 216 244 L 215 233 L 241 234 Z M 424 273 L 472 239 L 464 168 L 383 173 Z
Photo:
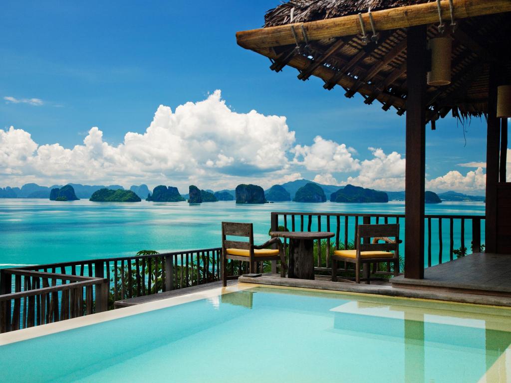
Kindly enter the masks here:
M 426 169 L 426 26 L 408 29 L 406 99 L 405 278 L 424 278 Z

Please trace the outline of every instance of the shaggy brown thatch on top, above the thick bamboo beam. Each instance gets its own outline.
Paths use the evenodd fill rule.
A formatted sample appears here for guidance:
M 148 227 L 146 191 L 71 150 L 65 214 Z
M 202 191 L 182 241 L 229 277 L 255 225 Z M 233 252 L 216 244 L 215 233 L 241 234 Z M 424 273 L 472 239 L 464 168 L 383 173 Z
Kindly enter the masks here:
M 291 22 L 307 22 L 428 3 L 431 0 L 290 0 L 266 12 L 264 26 L 274 27 Z M 433 0 L 434 1 L 434 0 Z M 293 19 L 291 19 L 291 13 Z

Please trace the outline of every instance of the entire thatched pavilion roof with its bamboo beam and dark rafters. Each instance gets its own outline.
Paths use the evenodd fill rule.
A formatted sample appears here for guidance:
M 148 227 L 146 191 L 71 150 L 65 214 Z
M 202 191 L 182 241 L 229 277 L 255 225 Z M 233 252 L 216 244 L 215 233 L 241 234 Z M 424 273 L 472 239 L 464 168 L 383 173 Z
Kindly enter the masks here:
M 449 1 L 441 3 L 453 38 L 452 83 L 428 87 L 428 120 L 449 112 L 460 118 L 484 115 L 490 63 L 506 57 L 509 49 L 511 0 L 454 0 L 452 30 Z M 369 7 L 377 42 L 368 39 L 373 35 Z M 294 67 L 300 80 L 316 76 L 326 89 L 340 85 L 346 97 L 358 92 L 366 104 L 379 101 L 384 110 L 394 107 L 403 114 L 408 91 L 406 27 L 427 25 L 428 38 L 438 36 L 436 7 L 428 0 L 290 0 L 267 12 L 265 28 L 238 32 L 237 38 L 241 46 L 270 58 L 272 70 Z M 509 60 L 507 65 L 511 73 Z

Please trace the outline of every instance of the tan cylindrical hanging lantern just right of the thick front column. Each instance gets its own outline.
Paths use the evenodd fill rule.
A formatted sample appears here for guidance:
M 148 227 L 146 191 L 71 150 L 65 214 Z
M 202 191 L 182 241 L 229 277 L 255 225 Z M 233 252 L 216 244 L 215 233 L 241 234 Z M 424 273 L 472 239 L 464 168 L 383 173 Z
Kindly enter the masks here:
M 451 83 L 451 38 L 430 39 L 429 49 L 431 50 L 431 71 L 428 72 L 428 85 L 449 85 Z

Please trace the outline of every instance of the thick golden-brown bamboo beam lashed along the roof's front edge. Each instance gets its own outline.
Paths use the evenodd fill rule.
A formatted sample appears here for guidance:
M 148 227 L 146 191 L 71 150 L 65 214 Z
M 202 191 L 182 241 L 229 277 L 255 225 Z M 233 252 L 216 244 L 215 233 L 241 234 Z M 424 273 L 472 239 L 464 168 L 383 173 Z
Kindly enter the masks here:
M 455 19 L 511 12 L 511 2 L 509 0 L 453 0 L 453 3 L 453 16 Z M 442 7 L 442 14 L 448 15 L 449 1 L 443 0 L 440 2 L 440 6 Z M 371 13 L 377 31 L 408 28 L 438 22 L 436 2 L 383 9 Z M 362 19 L 364 25 L 370 25 L 367 12 L 362 14 Z M 300 33 L 296 34 L 296 39 L 298 40 L 296 41 L 291 31 L 292 27 L 301 28 L 301 26 L 304 27 L 309 41 L 352 36 L 362 33 L 359 16 L 349 15 L 305 23 L 293 23 L 241 31 L 236 34 L 236 39 L 240 46 L 251 50 L 295 44 L 296 42 L 306 42 L 305 36 Z

